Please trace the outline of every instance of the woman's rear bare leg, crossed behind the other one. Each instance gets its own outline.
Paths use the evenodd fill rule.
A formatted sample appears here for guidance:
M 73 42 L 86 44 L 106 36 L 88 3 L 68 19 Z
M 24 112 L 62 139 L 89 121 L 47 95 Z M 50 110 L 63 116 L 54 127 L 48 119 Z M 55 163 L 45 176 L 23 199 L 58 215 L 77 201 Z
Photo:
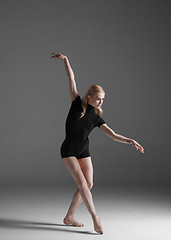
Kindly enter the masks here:
M 93 165 L 92 165 L 91 157 L 78 159 L 78 162 L 80 164 L 83 175 L 86 179 L 87 186 L 89 189 L 91 189 L 93 186 Z M 66 214 L 66 217 L 64 218 L 65 224 L 72 224 L 77 227 L 83 226 L 83 224 L 78 223 L 74 219 L 75 211 L 80 206 L 82 201 L 83 201 L 83 199 L 81 197 L 80 191 L 79 191 L 79 189 L 77 189 L 77 191 L 75 192 L 75 194 L 73 196 L 73 199 L 72 199 L 71 205 L 68 209 L 68 212 Z

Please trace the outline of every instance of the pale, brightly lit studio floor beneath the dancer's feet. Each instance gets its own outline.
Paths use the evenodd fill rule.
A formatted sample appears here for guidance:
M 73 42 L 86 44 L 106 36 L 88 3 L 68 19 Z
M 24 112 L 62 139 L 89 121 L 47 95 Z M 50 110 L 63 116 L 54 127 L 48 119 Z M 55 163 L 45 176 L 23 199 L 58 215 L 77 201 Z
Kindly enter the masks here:
M 0 239 L 171 239 L 171 186 L 97 188 L 92 194 L 103 235 L 94 232 L 84 203 L 76 213 L 83 228 L 62 223 L 73 187 L 0 186 Z

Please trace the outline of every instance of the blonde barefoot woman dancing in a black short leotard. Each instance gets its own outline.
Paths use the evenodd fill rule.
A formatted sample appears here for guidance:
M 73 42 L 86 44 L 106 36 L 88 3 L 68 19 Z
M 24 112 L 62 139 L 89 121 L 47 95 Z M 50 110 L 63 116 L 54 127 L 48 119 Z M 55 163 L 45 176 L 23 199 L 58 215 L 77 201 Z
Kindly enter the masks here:
M 115 133 L 100 117 L 102 114 L 101 106 L 105 97 L 105 92 L 102 87 L 98 85 L 91 86 L 83 100 L 81 100 L 68 58 L 60 53 L 52 53 L 51 57 L 64 60 L 72 101 L 66 120 L 66 138 L 61 146 L 61 156 L 66 168 L 74 178 L 78 189 L 73 196 L 63 222 L 64 224 L 77 227 L 83 226 L 83 224 L 74 219 L 74 213 L 83 200 L 92 216 L 94 230 L 99 234 L 103 234 L 100 219 L 96 214 L 90 192 L 93 186 L 93 166 L 89 153 L 88 135 L 93 128 L 99 127 L 104 134 L 115 141 L 132 144 L 142 153 L 144 153 L 144 149 L 135 140 Z

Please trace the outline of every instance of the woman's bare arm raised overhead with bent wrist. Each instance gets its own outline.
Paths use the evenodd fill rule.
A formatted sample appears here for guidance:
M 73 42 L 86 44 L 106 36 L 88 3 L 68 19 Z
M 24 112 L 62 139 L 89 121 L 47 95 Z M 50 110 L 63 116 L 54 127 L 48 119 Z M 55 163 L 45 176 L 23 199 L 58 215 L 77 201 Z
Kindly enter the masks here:
M 54 59 L 59 58 L 59 59 L 64 60 L 65 68 L 66 68 L 68 80 L 69 80 L 70 97 L 71 97 L 71 101 L 74 101 L 74 99 L 79 95 L 79 93 L 78 93 L 77 87 L 76 87 L 74 72 L 71 68 L 68 58 L 65 55 L 60 54 L 60 53 L 52 53 L 51 58 L 54 58 Z

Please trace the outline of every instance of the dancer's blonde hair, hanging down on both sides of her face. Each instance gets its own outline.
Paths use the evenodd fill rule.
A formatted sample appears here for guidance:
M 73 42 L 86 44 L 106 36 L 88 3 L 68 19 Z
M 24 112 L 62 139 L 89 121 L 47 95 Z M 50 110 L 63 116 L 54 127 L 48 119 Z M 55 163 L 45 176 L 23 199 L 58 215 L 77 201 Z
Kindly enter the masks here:
M 103 88 L 102 88 L 101 86 L 99 86 L 99 85 L 96 85 L 96 84 L 92 85 L 92 86 L 88 89 L 86 95 L 85 95 L 85 96 L 83 97 L 83 99 L 82 99 L 82 109 L 83 109 L 83 111 L 82 111 L 82 113 L 81 113 L 81 117 L 80 117 L 80 118 L 82 118 L 82 117 L 85 115 L 85 112 L 86 112 L 86 109 L 87 109 L 87 106 L 88 106 L 88 96 L 93 97 L 95 94 L 97 94 L 97 93 L 99 93 L 99 92 L 105 93 L 105 91 L 103 90 Z M 94 110 L 95 110 L 95 113 L 98 114 L 99 116 L 101 116 L 102 113 L 103 113 L 102 108 L 98 108 L 98 109 L 95 108 Z

